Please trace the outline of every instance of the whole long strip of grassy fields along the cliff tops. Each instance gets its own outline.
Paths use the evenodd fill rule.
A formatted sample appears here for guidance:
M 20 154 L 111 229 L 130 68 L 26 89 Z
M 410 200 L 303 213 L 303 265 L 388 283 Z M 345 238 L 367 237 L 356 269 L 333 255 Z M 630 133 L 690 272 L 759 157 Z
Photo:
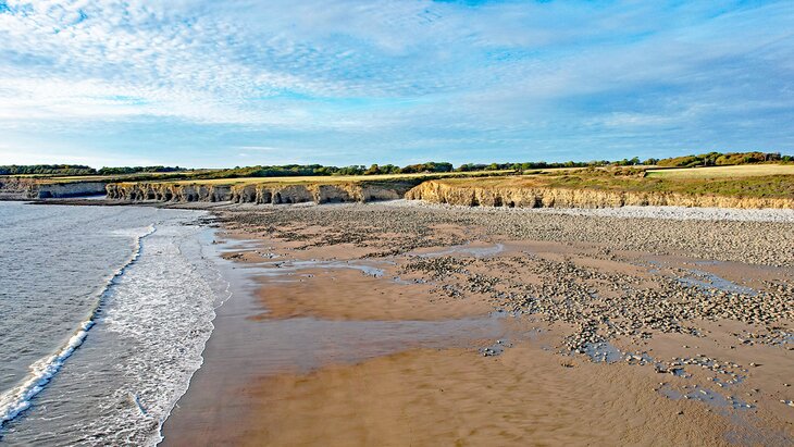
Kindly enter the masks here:
M 441 179 L 458 186 L 482 187 L 553 187 L 594 190 L 679 193 L 756 198 L 794 198 L 794 164 L 748 164 L 694 169 L 575 167 L 528 171 L 477 171 L 392 175 L 339 175 L 240 178 L 191 178 L 207 172 L 139 173 L 115 176 L 73 176 L 37 178 L 42 183 L 119 182 L 161 184 L 333 184 L 357 182 L 400 182 L 413 185 Z M 510 175 L 508 175 L 510 174 Z M 187 176 L 187 178 L 186 178 Z

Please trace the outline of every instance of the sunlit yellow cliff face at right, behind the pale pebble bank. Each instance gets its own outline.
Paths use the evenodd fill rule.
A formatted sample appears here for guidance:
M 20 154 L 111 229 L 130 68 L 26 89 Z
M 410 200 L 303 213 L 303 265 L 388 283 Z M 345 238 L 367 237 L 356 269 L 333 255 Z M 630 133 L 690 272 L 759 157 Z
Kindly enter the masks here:
M 615 208 L 624 206 L 674 206 L 717 208 L 789 208 L 794 198 L 745 198 L 687 196 L 674 193 L 632 193 L 546 187 L 479 187 L 430 181 L 406 194 L 409 200 L 425 200 L 483 207 Z

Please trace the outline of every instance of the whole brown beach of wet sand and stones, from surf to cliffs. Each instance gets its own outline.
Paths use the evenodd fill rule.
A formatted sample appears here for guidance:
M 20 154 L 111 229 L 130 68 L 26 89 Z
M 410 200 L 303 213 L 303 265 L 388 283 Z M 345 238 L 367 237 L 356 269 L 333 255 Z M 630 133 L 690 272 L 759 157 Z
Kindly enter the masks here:
M 498 214 L 381 213 L 222 214 L 235 296 L 164 444 L 794 443 L 786 235 L 740 262 L 683 222 L 644 249 L 634 221 L 558 216 L 612 225 L 554 240 Z

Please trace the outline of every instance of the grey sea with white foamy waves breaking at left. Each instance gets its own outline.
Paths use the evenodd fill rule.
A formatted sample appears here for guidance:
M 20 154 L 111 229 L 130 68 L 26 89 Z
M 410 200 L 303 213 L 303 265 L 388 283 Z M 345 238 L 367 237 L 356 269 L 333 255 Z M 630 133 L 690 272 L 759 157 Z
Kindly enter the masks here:
M 161 439 L 228 296 L 202 216 L 0 202 L 0 444 Z

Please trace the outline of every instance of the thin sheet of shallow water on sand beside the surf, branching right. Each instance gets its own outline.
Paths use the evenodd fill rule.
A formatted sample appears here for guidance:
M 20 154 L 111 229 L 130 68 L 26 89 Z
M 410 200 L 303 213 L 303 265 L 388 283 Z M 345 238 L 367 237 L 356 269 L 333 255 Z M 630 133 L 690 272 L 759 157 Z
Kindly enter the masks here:
M 258 241 L 234 240 L 218 245 L 229 253 L 264 249 Z M 259 252 L 259 251 L 258 251 Z M 281 266 L 276 266 L 281 265 Z M 240 414 L 256 405 L 251 390 L 259 381 L 277 374 L 310 373 L 334 364 L 353 364 L 411 349 L 464 348 L 472 358 L 476 348 L 536 336 L 517 314 L 495 311 L 472 318 L 438 321 L 323 320 L 318 318 L 264 319 L 259 297 L 261 283 L 285 282 L 317 269 L 358 270 L 372 282 L 395 278 L 372 271 L 374 260 L 221 263 L 231 278 L 233 297 L 218 310 L 216 327 L 204 352 L 206 362 L 164 425 L 164 445 L 202 443 L 202 433 L 223 433 L 239 426 Z M 373 274 L 374 272 L 374 274 Z M 322 296 L 318 296 L 322 299 Z M 496 343 L 503 340 L 503 343 Z M 234 429 L 232 429 L 234 430 Z

